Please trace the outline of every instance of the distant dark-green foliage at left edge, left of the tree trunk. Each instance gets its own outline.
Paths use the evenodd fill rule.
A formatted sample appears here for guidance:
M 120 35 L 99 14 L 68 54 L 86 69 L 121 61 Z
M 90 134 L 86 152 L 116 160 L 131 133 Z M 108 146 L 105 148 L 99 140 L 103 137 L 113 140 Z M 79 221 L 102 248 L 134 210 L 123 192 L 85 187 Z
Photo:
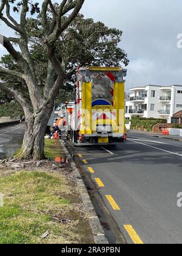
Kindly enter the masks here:
M 0 105 L 0 118 L 2 116 L 10 118 L 19 118 L 20 115 L 24 115 L 21 106 L 16 101 L 7 102 Z

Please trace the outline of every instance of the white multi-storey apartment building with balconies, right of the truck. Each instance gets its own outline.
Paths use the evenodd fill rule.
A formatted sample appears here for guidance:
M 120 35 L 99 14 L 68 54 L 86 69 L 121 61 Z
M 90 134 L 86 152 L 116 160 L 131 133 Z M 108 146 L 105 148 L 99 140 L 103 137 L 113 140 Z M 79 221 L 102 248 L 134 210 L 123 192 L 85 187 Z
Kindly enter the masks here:
M 142 118 L 164 118 L 170 123 L 172 116 L 182 110 L 182 85 L 147 85 L 130 89 L 126 98 L 126 119 L 132 115 Z

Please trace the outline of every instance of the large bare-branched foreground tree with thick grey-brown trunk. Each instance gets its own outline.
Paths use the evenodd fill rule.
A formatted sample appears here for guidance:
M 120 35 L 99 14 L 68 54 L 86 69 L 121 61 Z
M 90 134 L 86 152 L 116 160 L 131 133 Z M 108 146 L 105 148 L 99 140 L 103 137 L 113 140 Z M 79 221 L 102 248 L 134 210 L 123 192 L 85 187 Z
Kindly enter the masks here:
M 25 98 L 22 90 L 10 87 L 6 81 L 0 82 L 0 90 L 15 98 L 25 113 L 25 135 L 19 158 L 35 160 L 44 158 L 45 129 L 56 96 L 66 77 L 64 56 L 59 53 L 58 57 L 56 42 L 76 18 L 83 4 L 84 0 L 62 0 L 55 8 L 51 0 L 44 0 L 40 10 L 39 4 L 34 1 L 1 0 L 0 20 L 17 35 L 9 38 L 3 36 L 3 46 L 21 71 L 0 66 L 0 75 L 18 77 L 22 86 L 25 86 L 29 92 L 29 97 Z M 12 10 L 19 13 L 19 23 L 13 18 Z M 35 61 L 31 52 L 32 43 L 25 29 L 29 13 L 31 15 L 39 13 L 43 28 L 43 43 L 47 57 L 46 80 L 43 88 L 36 76 Z M 19 50 L 13 44 L 16 44 Z

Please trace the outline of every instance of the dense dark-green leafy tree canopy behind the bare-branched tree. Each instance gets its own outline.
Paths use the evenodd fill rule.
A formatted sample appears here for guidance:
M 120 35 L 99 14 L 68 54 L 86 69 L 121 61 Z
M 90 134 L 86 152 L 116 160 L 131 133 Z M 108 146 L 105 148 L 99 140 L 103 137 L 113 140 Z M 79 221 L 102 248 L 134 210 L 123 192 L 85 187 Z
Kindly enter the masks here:
M 56 8 L 55 4 L 55 8 Z M 49 11 L 50 12 L 50 11 Z M 41 18 L 29 18 L 25 30 L 31 42 L 31 54 L 36 70 L 39 87 L 44 87 L 47 69 L 47 52 L 44 45 L 44 28 Z M 56 42 L 57 52 L 64 57 L 67 66 L 67 74 L 64 84 L 59 90 L 56 104 L 73 100 L 73 88 L 76 82 L 75 69 L 77 66 L 120 66 L 121 63 L 127 65 L 129 60 L 123 49 L 118 47 L 123 32 L 108 28 L 101 22 L 94 22 L 91 18 L 84 19 L 83 15 L 78 15 L 75 20 L 67 27 L 64 34 Z M 60 54 L 57 55 L 59 57 Z M 11 55 L 4 55 L 1 65 L 7 69 L 23 72 L 13 60 Z M 3 75 L 3 80 L 8 86 L 21 90 L 25 94 L 26 86 L 15 77 Z M 15 82 L 16 81 L 16 82 Z M 29 98 L 29 93 L 24 95 Z M 1 98 L 5 101 L 12 100 L 4 94 Z

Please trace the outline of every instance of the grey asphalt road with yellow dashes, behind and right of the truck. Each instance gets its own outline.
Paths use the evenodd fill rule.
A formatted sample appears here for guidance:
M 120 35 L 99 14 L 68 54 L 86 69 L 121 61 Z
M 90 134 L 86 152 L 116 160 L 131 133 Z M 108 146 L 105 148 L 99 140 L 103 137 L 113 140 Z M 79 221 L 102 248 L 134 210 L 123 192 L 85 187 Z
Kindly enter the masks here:
M 129 244 L 181 244 L 182 143 L 130 133 L 114 149 L 75 148 Z

